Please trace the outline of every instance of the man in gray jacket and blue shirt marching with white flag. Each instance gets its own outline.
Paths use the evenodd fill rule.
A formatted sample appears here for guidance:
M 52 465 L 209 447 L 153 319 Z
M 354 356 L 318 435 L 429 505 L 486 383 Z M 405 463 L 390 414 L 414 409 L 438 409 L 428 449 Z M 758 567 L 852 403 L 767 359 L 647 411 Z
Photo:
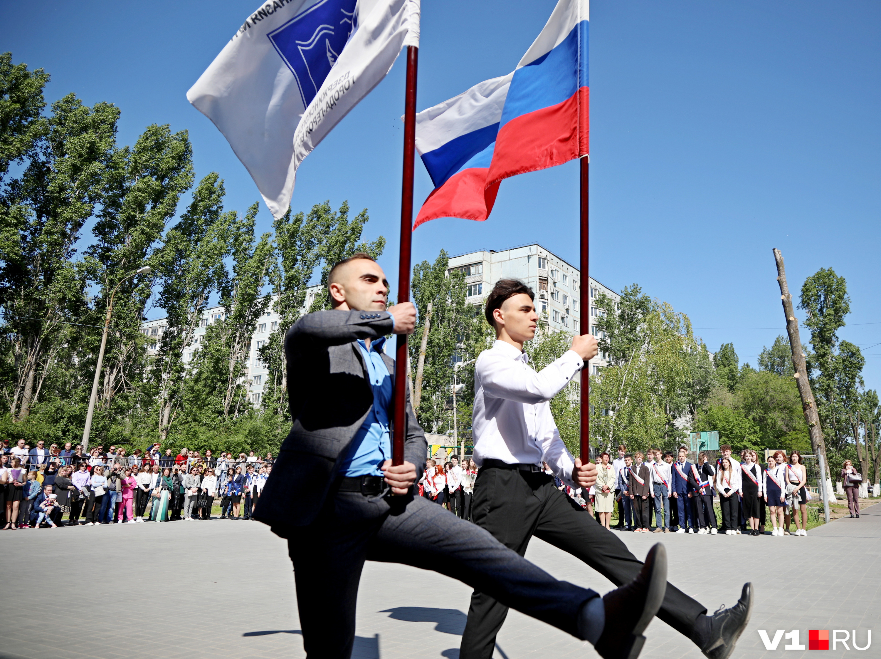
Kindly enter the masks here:
M 412 333 L 416 310 L 410 302 L 386 309 L 388 282 L 366 254 L 337 263 L 328 281 L 334 309 L 300 318 L 285 336 L 293 425 L 255 513 L 288 540 L 307 656 L 352 654 L 361 570 L 379 560 L 442 565 L 507 606 L 589 640 L 606 659 L 635 659 L 666 589 L 663 546 L 633 581 L 600 597 L 413 496 L 425 434 L 408 397 L 404 463 L 391 466 L 395 362 L 381 348 L 389 333 Z M 579 479 L 589 487 L 596 470 Z

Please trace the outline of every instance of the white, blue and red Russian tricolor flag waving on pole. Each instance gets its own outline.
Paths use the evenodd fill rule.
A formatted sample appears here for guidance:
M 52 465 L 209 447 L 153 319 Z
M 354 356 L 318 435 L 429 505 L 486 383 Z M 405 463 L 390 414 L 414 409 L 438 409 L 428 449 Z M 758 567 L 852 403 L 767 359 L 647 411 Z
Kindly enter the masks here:
M 588 154 L 589 0 L 559 0 L 513 73 L 416 115 L 434 183 L 415 229 L 434 218 L 484 220 L 502 179 Z

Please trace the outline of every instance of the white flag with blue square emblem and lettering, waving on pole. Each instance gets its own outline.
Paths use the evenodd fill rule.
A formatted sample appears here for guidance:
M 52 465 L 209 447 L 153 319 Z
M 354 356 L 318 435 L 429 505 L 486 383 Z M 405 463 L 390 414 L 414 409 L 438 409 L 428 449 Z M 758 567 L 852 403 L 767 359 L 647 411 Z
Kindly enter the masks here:
M 187 93 L 218 127 L 272 215 L 297 167 L 419 45 L 419 0 L 272 0 L 248 16 Z

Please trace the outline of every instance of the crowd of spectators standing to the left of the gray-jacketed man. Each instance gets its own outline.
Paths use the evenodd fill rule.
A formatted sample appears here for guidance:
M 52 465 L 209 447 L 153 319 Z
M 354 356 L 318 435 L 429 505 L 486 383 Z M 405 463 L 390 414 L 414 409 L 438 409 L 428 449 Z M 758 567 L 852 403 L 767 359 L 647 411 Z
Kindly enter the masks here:
M 85 524 L 172 522 L 211 519 L 215 500 L 221 519 L 253 519 L 272 470 L 266 457 L 153 444 L 126 455 L 103 446 L 46 447 L 4 441 L 0 454 L 0 529 Z M 66 518 L 65 518 L 66 517 Z

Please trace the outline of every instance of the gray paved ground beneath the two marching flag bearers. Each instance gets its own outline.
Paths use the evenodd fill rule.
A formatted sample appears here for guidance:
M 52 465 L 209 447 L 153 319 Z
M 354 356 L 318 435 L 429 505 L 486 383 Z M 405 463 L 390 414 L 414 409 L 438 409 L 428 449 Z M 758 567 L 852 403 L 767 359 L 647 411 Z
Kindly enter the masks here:
M 638 556 L 659 538 L 670 581 L 710 611 L 756 590 L 750 626 L 733 659 L 799 659 L 788 640 L 766 650 L 757 630 L 857 630 L 872 647 L 823 656 L 881 656 L 881 505 L 808 537 L 624 533 Z M 3 659 L 242 659 L 303 657 L 285 541 L 258 522 L 211 520 L 4 531 L 0 587 Z M 566 553 L 533 540 L 527 558 L 559 579 L 604 592 L 611 583 Z M 438 568 L 444 571 L 444 566 Z M 368 563 L 359 590 L 356 659 L 456 659 L 470 589 L 433 572 Z M 874 627 L 874 629 L 873 629 Z M 877 634 L 876 634 L 877 633 Z M 660 620 L 648 627 L 648 659 L 700 659 Z M 848 643 L 848 647 L 851 647 Z M 588 644 L 512 611 L 498 659 L 596 657 Z M 811 656 L 811 655 L 809 655 Z M 819 656 L 819 655 L 817 655 Z

